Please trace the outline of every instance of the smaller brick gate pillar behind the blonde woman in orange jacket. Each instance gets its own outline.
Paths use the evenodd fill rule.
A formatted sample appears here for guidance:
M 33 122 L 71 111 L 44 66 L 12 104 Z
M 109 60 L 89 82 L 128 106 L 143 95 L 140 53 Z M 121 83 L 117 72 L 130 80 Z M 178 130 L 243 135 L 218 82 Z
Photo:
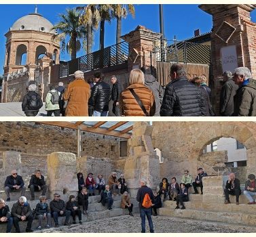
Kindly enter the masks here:
M 160 33 L 154 33 L 144 26 L 137 26 L 135 30 L 122 36 L 129 43 L 128 71 L 141 66 L 151 66 L 150 52 L 154 43 L 161 38 Z

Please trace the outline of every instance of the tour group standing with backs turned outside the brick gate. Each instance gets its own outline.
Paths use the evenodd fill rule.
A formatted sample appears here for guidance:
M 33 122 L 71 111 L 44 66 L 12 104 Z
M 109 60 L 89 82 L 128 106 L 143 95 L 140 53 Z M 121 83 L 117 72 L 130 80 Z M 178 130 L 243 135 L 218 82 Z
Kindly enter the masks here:
M 100 72 L 95 72 L 93 81 L 89 81 L 78 70 L 67 88 L 62 82 L 56 88 L 50 85 L 45 110 L 48 116 L 108 116 L 112 100 L 115 116 L 215 116 L 205 76 L 188 79 L 182 64 L 172 64 L 169 77 L 170 83 L 163 92 L 151 68 L 143 66 L 141 70 L 131 70 L 129 86 L 122 91 L 115 76 L 111 77 L 111 87 Z M 256 81 L 249 68 L 225 71 L 223 82 L 221 116 L 256 116 Z M 36 116 L 42 106 L 37 85 L 29 85 L 22 110 L 26 116 Z

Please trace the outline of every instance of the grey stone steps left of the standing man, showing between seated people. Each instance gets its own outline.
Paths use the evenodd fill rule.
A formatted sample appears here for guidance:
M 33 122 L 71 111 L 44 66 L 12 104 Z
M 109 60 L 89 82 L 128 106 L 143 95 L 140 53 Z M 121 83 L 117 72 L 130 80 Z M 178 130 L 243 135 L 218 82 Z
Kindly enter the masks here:
M 89 197 L 89 205 L 88 205 L 88 215 L 81 215 L 81 220 L 82 222 L 85 221 L 94 221 L 96 219 L 105 219 L 105 218 L 109 218 L 109 217 L 115 217 L 115 216 L 120 216 L 120 215 L 128 215 L 128 210 L 127 209 L 121 209 L 120 208 L 120 202 L 121 202 L 121 197 L 122 196 L 114 196 L 114 202 L 113 202 L 113 210 L 109 211 L 107 210 L 107 204 L 105 207 L 103 207 L 103 205 L 101 203 L 98 203 L 98 201 L 100 200 L 100 196 L 90 196 Z M 134 213 L 138 213 L 139 212 L 139 206 L 138 206 L 138 202 L 136 202 L 135 199 L 131 198 L 132 203 L 134 204 L 134 209 L 133 212 Z M 10 207 L 10 209 L 12 209 L 12 205 L 15 203 L 16 201 L 11 201 L 11 202 L 6 202 L 6 204 Z M 31 205 L 31 209 L 35 209 L 37 203 L 39 202 L 38 200 L 29 200 L 28 199 L 29 204 Z M 50 203 L 50 200 L 48 200 L 48 204 Z M 83 210 L 82 207 L 80 207 L 81 211 Z M 78 217 L 76 217 L 76 221 L 78 223 Z M 58 223 L 59 225 L 63 225 L 65 222 L 65 217 L 59 217 L 58 219 Z M 72 217 L 70 217 L 69 219 L 69 223 L 72 224 L 73 219 Z M 26 229 L 26 221 L 22 222 L 20 221 L 20 231 L 24 232 Z M 46 225 L 46 220 L 43 220 L 43 228 L 45 228 Z M 37 219 L 35 219 L 33 221 L 32 224 L 32 229 L 36 232 L 40 232 L 39 230 L 37 230 L 37 226 L 38 226 L 38 221 Z M 54 226 L 54 221 L 52 219 L 52 226 Z M 3 233 L 6 231 L 6 224 L 2 224 L 0 225 L 0 233 Z M 14 227 L 12 228 L 12 232 L 15 232 Z

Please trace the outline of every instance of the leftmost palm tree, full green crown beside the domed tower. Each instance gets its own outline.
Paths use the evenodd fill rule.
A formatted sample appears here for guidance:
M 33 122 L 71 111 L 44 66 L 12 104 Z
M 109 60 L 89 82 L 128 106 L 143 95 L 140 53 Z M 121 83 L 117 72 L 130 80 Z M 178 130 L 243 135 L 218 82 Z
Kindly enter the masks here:
M 54 37 L 62 41 L 62 51 L 67 49 L 71 54 L 71 60 L 77 58 L 77 51 L 81 49 L 80 39 L 84 39 L 86 28 L 79 23 L 79 12 L 75 9 L 67 9 L 66 14 L 60 14 L 60 22 L 52 27 L 52 30 L 58 30 L 58 35 Z M 69 38 L 68 43 L 66 43 Z

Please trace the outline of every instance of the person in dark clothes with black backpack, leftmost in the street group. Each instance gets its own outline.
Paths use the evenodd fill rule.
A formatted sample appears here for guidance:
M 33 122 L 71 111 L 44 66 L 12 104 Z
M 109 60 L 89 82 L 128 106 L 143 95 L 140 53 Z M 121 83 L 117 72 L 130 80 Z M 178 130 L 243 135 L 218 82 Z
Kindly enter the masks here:
M 41 97 L 35 92 L 36 90 L 37 85 L 29 85 L 28 93 L 23 98 L 22 111 L 24 111 L 26 116 L 37 116 L 39 109 L 43 106 Z

